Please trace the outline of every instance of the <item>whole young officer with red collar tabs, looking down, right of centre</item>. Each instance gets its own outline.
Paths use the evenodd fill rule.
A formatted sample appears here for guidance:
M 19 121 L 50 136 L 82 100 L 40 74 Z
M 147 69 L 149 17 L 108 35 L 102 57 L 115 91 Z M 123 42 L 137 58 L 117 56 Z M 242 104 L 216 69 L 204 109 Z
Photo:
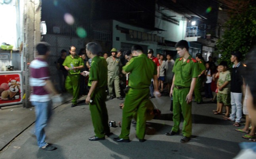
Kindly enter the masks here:
M 173 83 L 171 85 L 170 96 L 173 96 L 173 127 L 171 132 L 166 132 L 167 136 L 179 134 L 179 124 L 181 113 L 184 118 L 181 142 L 189 142 L 192 134 L 192 113 L 191 102 L 196 78 L 198 76 L 197 61 L 189 54 L 189 45 L 186 40 L 181 40 L 175 44 L 177 54 L 173 66 Z

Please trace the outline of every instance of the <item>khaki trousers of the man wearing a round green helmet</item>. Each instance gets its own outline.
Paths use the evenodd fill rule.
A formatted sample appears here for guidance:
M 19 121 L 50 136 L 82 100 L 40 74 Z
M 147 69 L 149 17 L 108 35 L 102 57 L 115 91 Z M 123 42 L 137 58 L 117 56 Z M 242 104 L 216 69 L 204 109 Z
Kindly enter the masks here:
M 109 90 L 109 96 L 114 96 L 114 87 L 115 87 L 115 96 L 120 97 L 120 79 L 119 76 L 110 76 L 108 75 L 108 90 Z

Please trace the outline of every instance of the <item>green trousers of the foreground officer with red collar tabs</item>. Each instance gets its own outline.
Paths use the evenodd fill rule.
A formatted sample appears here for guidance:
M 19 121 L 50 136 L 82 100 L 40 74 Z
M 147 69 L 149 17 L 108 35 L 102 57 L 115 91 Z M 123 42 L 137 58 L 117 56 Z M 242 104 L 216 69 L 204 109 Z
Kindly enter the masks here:
M 192 113 L 190 102 L 187 104 L 186 97 L 189 93 L 190 88 L 177 89 L 173 90 L 173 127 L 171 131 L 178 132 L 179 124 L 181 123 L 181 113 L 183 115 L 183 136 L 191 137 L 192 134 Z

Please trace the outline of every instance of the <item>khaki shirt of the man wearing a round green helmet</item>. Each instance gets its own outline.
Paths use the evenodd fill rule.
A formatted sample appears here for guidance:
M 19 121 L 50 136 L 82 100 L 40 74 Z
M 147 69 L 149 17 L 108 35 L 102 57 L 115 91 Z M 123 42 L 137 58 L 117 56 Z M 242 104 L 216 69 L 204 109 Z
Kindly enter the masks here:
M 106 61 L 107 61 L 107 64 L 108 64 L 108 75 L 119 76 L 120 75 L 120 68 L 122 66 L 120 58 L 115 57 L 115 61 L 114 61 L 113 57 L 110 56 L 106 59 Z

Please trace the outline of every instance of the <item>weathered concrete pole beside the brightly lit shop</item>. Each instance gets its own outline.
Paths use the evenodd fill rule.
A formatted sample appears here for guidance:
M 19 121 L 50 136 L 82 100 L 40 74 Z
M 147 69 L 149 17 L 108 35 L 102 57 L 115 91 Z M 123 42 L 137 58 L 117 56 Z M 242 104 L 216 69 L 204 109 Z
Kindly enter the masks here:
M 31 107 L 29 96 L 31 87 L 29 86 L 29 64 L 35 57 L 35 45 L 40 42 L 40 21 L 42 0 L 24 0 L 24 44 L 23 44 L 23 107 Z

